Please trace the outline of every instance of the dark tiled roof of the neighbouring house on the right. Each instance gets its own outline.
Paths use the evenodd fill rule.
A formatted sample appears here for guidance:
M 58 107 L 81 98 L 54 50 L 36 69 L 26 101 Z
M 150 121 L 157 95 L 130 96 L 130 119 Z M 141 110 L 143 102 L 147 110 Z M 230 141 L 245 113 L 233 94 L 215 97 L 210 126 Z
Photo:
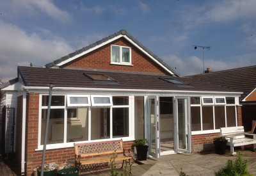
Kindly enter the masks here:
M 243 100 L 256 88 L 256 65 L 187 77 L 194 77 L 243 92 L 241 95 L 241 100 Z

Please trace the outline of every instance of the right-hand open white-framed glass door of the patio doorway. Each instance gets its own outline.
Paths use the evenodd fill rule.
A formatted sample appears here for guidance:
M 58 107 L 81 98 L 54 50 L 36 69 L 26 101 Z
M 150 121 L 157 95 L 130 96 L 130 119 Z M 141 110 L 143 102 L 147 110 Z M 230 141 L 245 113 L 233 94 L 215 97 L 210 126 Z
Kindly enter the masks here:
M 175 150 L 191 152 L 189 98 L 175 97 Z

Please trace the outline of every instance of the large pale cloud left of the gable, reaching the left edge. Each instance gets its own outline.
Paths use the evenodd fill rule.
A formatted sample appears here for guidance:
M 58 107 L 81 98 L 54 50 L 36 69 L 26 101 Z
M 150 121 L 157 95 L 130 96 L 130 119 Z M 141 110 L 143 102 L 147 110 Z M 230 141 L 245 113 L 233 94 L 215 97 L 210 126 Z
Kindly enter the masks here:
M 51 34 L 42 38 L 37 33 L 28 34 L 19 27 L 0 20 L 0 79 L 17 76 L 17 66 L 44 66 L 74 51 L 67 41 Z M 47 31 L 49 34 L 49 31 Z M 4 41 L 4 42 L 3 42 Z

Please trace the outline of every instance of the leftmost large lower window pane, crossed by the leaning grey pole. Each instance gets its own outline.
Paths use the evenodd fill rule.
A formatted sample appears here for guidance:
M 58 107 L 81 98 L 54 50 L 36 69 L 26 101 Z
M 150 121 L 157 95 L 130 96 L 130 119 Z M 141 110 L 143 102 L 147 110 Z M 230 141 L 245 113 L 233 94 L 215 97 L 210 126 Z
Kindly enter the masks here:
M 47 109 L 42 109 L 41 145 L 44 145 Z M 47 144 L 63 143 L 64 139 L 64 109 L 51 109 L 47 135 Z

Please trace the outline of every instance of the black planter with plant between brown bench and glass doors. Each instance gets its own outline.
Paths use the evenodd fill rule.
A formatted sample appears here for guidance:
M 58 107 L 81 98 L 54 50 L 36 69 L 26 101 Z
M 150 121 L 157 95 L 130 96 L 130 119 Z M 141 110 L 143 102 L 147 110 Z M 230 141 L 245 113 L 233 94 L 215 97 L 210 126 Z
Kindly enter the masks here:
M 148 153 L 148 142 L 147 139 L 136 139 L 133 143 L 133 146 L 136 147 L 138 160 L 144 161 L 147 160 Z

